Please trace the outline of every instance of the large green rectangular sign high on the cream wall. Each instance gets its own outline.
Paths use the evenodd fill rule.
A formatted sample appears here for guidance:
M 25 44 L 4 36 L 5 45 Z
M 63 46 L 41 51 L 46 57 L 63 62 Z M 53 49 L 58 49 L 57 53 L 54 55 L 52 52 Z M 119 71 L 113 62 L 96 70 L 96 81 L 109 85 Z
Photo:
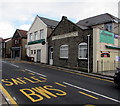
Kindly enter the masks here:
M 100 42 L 114 44 L 114 33 L 100 30 Z

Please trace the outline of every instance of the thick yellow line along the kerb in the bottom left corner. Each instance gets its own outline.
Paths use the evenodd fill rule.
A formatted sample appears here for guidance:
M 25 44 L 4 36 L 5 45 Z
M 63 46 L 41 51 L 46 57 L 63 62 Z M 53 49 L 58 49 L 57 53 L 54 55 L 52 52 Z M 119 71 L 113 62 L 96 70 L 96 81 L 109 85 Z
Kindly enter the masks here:
M 10 94 L 7 92 L 7 90 L 0 84 L 1 91 L 5 94 L 5 96 L 9 99 L 10 104 L 15 104 L 18 106 L 18 104 L 15 102 L 15 100 L 10 96 Z

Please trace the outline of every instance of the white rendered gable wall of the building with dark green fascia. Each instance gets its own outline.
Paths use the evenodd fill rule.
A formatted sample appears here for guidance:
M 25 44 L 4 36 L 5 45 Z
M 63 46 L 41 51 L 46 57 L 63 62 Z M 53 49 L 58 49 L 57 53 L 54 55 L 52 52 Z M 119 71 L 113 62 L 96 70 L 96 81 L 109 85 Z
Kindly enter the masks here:
M 27 46 L 27 56 L 34 57 L 34 62 L 37 61 L 37 50 L 41 50 L 41 63 L 47 63 L 47 25 L 38 17 L 36 16 L 33 24 L 31 25 L 28 33 L 27 33 L 27 43 L 30 42 L 30 33 L 34 35 L 34 32 L 38 31 L 37 39 L 40 40 L 40 30 L 44 29 L 44 39 L 46 44 L 42 45 L 41 43 L 32 44 Z M 34 37 L 32 37 L 32 41 L 34 41 Z M 31 50 L 36 50 L 36 54 L 31 54 Z

